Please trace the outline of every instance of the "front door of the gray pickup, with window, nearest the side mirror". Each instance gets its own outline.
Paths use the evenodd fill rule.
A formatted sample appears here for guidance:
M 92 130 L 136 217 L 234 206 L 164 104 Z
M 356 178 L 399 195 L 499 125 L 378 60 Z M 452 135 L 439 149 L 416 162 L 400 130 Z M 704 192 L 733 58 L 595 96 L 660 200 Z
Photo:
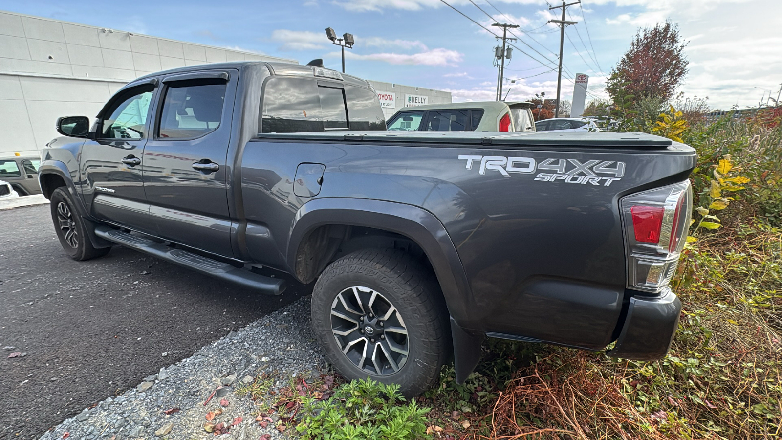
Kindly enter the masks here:
M 142 182 L 152 83 L 128 88 L 98 115 L 95 139 L 82 147 L 84 203 L 96 218 L 151 233 Z

